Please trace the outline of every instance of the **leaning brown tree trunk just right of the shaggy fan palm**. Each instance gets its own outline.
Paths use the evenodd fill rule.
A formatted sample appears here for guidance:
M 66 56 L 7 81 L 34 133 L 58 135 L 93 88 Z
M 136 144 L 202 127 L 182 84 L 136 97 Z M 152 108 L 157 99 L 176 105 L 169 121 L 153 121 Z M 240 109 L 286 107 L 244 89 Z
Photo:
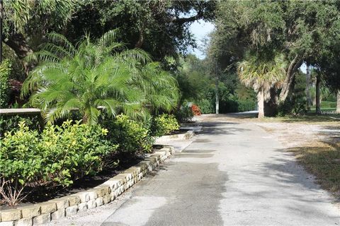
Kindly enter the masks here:
M 280 104 L 285 102 L 285 99 L 287 98 L 291 85 L 294 81 L 295 72 L 300 68 L 301 64 L 302 59 L 300 59 L 299 56 L 296 56 L 293 61 L 290 62 L 288 69 L 285 71 L 285 81 L 283 82 L 280 97 L 278 98 L 278 102 Z

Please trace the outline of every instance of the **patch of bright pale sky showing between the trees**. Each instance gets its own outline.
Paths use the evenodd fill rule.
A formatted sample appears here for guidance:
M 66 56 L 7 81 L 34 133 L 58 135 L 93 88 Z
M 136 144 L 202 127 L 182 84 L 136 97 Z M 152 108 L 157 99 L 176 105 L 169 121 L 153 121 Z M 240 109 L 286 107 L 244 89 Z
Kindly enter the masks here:
M 203 45 L 202 40 L 205 37 L 208 37 L 209 33 L 214 30 L 214 25 L 210 22 L 204 22 L 203 20 L 196 20 L 194 23 L 191 24 L 190 30 L 196 38 L 198 48 L 190 48 L 188 50 L 189 52 L 195 54 L 198 58 L 204 59 L 205 54 L 200 51 L 200 47 L 202 47 Z

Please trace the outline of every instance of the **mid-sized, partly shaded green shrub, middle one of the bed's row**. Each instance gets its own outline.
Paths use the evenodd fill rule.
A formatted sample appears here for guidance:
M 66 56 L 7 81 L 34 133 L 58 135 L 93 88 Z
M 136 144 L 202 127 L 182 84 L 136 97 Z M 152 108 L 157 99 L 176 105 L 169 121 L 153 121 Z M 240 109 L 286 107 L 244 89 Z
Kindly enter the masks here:
M 120 114 L 115 119 L 104 119 L 101 124 L 108 129 L 108 139 L 119 144 L 118 153 L 139 155 L 151 152 L 154 138 L 142 122 Z

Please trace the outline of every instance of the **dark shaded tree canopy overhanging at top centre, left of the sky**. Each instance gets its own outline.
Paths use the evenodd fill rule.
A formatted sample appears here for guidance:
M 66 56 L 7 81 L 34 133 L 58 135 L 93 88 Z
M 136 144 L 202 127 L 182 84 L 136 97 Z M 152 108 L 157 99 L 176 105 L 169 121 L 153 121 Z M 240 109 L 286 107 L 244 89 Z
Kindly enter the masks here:
M 65 28 L 66 35 L 76 43 L 88 30 L 94 37 L 114 28 L 121 28 L 120 40 L 129 48 L 142 48 L 157 61 L 176 57 L 196 46 L 189 26 L 195 20 L 211 20 L 215 1 L 119 0 L 81 1 L 72 20 Z

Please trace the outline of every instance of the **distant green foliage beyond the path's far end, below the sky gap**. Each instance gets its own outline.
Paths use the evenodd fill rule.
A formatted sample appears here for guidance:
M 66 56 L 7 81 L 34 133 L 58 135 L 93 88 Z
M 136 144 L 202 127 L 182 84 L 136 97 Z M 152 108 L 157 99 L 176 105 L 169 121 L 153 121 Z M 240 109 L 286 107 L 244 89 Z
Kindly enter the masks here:
M 215 65 L 210 64 L 210 59 L 198 59 L 193 55 L 183 58 L 176 71 L 181 91 L 180 102 L 198 105 L 203 114 L 215 113 L 217 92 L 220 113 L 256 109 L 256 93 L 252 88 L 246 88 L 240 83 L 236 73 L 215 69 Z M 182 104 L 176 111 L 179 121 L 190 121 L 192 117 L 186 104 Z

